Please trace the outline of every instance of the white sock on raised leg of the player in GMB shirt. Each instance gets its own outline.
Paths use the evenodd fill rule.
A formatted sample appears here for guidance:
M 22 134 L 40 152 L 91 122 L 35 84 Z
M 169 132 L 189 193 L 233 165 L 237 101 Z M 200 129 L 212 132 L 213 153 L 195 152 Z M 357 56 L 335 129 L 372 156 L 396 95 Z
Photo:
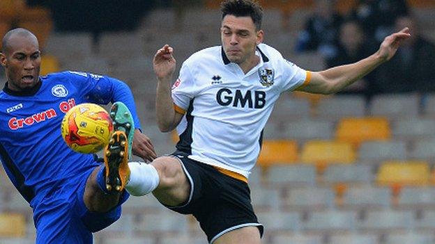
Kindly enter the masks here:
M 143 196 L 157 188 L 160 179 L 153 165 L 131 162 L 128 163 L 128 167 L 130 168 L 130 180 L 125 189 L 130 195 Z

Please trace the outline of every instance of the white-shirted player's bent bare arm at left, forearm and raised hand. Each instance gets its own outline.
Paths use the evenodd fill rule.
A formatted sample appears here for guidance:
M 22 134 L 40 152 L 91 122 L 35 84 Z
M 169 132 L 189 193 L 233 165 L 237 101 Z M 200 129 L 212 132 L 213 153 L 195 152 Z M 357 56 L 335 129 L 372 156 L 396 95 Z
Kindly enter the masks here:
M 158 79 L 155 110 L 158 127 L 162 132 L 172 131 L 183 118 L 183 111 L 175 110 L 171 97 L 171 81 L 176 65 L 172 53 L 173 49 L 166 44 L 158 49 L 153 59 L 154 72 Z

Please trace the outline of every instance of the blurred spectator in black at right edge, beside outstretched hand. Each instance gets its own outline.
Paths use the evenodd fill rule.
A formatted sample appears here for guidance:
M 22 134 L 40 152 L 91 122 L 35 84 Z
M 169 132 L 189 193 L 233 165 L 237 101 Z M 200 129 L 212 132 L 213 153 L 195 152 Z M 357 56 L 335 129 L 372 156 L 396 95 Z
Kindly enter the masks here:
M 415 19 L 399 17 L 396 29 L 409 27 L 408 38 L 390 62 L 381 65 L 376 77 L 379 92 L 434 92 L 435 44 L 422 38 Z

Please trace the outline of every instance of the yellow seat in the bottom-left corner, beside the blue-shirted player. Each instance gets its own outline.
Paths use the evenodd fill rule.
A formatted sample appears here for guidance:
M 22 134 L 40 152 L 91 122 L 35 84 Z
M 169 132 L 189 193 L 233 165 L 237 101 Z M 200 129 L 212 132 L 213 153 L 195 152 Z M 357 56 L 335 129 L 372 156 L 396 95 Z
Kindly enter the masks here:
M 26 218 L 20 213 L 0 213 L 0 237 L 23 237 Z

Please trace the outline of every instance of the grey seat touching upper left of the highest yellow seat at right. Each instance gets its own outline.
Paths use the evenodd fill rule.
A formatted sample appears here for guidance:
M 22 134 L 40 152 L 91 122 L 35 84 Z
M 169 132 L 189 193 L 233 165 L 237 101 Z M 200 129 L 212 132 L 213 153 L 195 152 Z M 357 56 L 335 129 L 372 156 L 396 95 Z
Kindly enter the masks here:
M 358 95 L 335 95 L 322 99 L 317 108 L 319 118 L 364 117 L 365 98 Z

